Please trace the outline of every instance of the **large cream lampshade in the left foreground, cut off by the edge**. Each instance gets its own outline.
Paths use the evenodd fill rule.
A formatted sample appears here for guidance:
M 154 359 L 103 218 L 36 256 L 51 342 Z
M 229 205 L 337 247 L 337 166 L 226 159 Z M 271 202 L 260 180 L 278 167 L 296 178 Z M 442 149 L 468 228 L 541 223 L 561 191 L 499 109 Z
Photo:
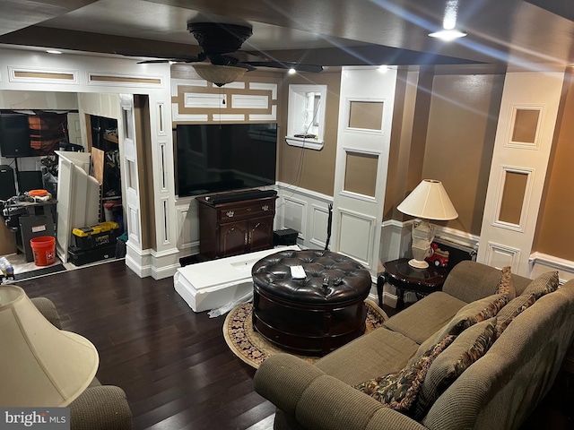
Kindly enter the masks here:
M 89 340 L 58 330 L 22 288 L 0 286 L 0 405 L 65 407 L 88 387 L 99 363 Z

